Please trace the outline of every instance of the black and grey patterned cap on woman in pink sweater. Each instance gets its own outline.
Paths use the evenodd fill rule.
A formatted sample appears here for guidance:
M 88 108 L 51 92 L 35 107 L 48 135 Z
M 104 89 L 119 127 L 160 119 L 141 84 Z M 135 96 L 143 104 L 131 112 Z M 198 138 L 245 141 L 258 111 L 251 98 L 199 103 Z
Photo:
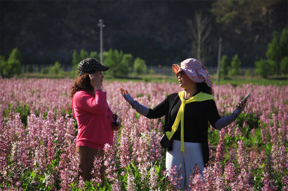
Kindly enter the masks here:
M 91 71 L 107 71 L 110 66 L 103 66 L 98 60 L 94 58 L 84 59 L 78 66 L 79 76 Z

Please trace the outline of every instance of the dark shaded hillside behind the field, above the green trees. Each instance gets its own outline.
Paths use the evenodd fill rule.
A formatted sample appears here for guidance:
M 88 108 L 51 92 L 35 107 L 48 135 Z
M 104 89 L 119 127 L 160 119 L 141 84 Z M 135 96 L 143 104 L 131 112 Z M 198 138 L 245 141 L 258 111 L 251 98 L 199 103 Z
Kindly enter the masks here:
M 287 2 L 1 0 L 0 54 L 7 59 L 18 47 L 24 64 L 69 65 L 73 50 L 100 53 L 97 24 L 103 19 L 104 51 L 123 50 L 147 65 L 171 65 L 192 56 L 186 20 L 202 10 L 212 25 L 205 45 L 209 59 L 203 64 L 217 66 L 221 37 L 221 55 L 232 59 L 238 54 L 242 66 L 253 67 L 266 58 L 273 31 L 281 34 L 287 28 Z

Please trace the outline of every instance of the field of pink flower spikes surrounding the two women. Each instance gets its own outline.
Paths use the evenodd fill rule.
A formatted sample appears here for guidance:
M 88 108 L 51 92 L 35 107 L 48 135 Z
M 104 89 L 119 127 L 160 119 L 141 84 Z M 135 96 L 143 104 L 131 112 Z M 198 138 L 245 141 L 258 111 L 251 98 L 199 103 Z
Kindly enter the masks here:
M 179 190 L 181 167 L 166 177 L 165 153 L 159 142 L 164 118 L 147 119 L 120 95 L 128 89 L 153 108 L 182 89 L 174 83 L 103 82 L 107 101 L 122 128 L 114 145 L 106 145 L 106 182 L 101 158 L 94 179 L 77 179 L 77 123 L 68 95 L 73 79 L 0 78 L 0 190 Z M 176 81 L 176 80 L 175 80 Z M 210 164 L 200 175 L 191 169 L 191 190 L 288 190 L 288 87 L 245 84 L 213 86 L 218 112 L 225 116 L 251 92 L 235 122 L 209 128 Z

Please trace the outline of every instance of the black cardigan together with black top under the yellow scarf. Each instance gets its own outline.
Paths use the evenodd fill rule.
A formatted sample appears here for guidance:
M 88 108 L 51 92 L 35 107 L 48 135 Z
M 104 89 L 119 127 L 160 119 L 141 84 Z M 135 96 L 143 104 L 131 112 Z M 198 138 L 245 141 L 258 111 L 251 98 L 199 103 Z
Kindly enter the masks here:
M 172 125 L 176 119 L 181 100 L 178 93 L 173 93 L 153 109 L 149 109 L 146 116 L 150 119 L 156 119 L 165 116 L 163 132 L 171 131 Z M 184 109 L 184 142 L 202 143 L 204 164 L 209 160 L 208 147 L 208 120 L 215 128 L 216 121 L 220 119 L 217 106 L 214 100 L 205 100 L 202 102 L 191 102 L 185 105 Z M 180 141 L 181 122 L 173 139 Z M 168 149 L 172 150 L 172 146 Z M 179 148 L 180 149 L 180 148 Z

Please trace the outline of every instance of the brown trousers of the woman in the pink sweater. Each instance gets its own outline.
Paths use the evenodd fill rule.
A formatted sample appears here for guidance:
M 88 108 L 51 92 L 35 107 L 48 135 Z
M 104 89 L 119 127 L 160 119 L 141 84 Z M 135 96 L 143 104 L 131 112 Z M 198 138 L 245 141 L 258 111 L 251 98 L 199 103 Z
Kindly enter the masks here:
M 101 180 L 104 181 L 105 177 L 105 170 L 107 169 L 106 166 L 104 166 L 104 151 L 93 149 L 91 147 L 86 146 L 79 146 L 76 147 L 76 152 L 79 153 L 80 161 L 79 168 L 82 170 L 82 172 L 78 172 L 79 176 L 82 176 L 84 181 L 88 180 L 90 181 L 93 178 L 93 175 L 91 174 L 92 169 L 94 168 L 94 159 L 95 156 L 101 155 L 102 157 L 102 168 L 100 170 L 101 172 Z M 94 170 L 95 171 L 95 170 Z

